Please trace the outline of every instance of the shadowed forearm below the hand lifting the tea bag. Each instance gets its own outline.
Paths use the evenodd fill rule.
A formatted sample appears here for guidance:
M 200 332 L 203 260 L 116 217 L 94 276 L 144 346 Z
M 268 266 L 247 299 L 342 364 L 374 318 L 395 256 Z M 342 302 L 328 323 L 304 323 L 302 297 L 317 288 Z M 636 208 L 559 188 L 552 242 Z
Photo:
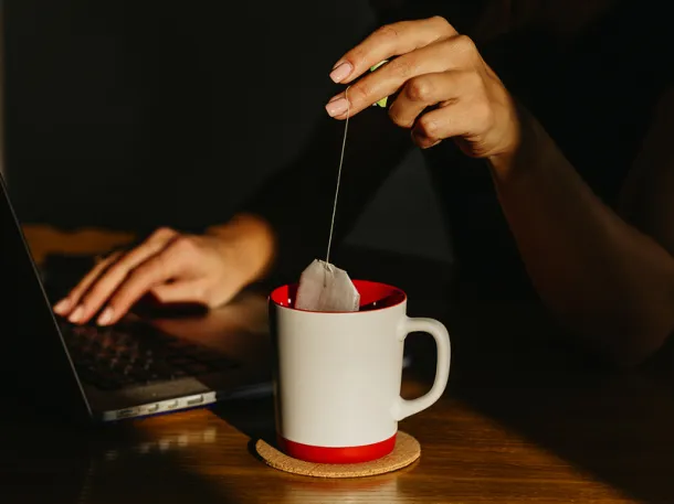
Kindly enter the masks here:
M 621 364 L 674 328 L 674 260 L 582 181 L 526 112 L 512 158 L 491 160 L 498 197 L 544 302 Z

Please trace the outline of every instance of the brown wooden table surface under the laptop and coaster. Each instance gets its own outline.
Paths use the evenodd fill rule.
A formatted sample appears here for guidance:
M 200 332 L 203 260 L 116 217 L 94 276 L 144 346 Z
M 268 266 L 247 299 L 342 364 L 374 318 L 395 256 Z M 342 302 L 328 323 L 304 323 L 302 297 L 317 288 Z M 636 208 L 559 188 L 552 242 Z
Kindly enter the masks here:
M 96 253 L 130 238 L 39 227 L 27 236 L 38 258 L 50 250 Z M 0 502 L 674 503 L 667 348 L 643 369 L 611 371 L 566 344 L 564 331 L 530 303 L 465 301 L 447 309 L 442 293 L 419 281 L 438 282 L 436 266 L 358 254 L 344 260 L 356 277 L 388 281 L 391 271 L 413 271 L 399 282 L 411 314 L 441 318 L 452 335 L 445 396 L 400 425 L 422 446 L 412 467 L 357 480 L 271 469 L 251 442 L 272 428 L 272 401 L 248 399 L 80 432 L 4 421 Z M 245 317 L 260 323 L 264 299 L 251 307 Z M 218 313 L 209 318 L 199 326 L 177 321 L 175 332 L 217 340 Z M 429 341 L 417 339 L 407 397 L 428 388 Z

